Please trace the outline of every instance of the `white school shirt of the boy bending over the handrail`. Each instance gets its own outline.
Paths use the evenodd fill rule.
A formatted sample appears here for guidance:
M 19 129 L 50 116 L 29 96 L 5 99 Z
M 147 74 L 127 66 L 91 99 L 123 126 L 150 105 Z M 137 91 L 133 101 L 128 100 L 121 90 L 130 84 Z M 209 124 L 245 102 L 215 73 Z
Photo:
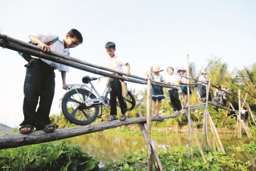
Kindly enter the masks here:
M 39 34 L 39 33 L 35 33 L 35 34 L 31 34 L 31 36 L 36 36 L 38 37 L 42 42 L 49 42 L 54 40 L 56 37 L 58 37 L 57 35 L 54 35 L 52 33 L 45 33 L 45 34 Z M 39 44 L 38 44 L 39 46 Z M 51 48 L 51 51 L 59 53 L 59 54 L 63 54 L 63 55 L 69 55 L 69 48 L 64 48 L 64 42 L 63 39 L 58 39 L 58 41 L 56 41 L 54 44 L 49 45 L 49 47 Z M 37 58 L 35 56 L 32 56 L 32 58 Z M 58 69 L 59 71 L 66 71 L 69 72 L 69 66 L 67 65 L 63 65 L 60 63 L 56 63 L 53 61 L 49 61 L 46 59 L 42 59 L 40 58 L 42 61 L 44 61 L 45 63 L 47 63 L 48 65 L 51 65 L 52 67 L 54 67 L 54 69 Z

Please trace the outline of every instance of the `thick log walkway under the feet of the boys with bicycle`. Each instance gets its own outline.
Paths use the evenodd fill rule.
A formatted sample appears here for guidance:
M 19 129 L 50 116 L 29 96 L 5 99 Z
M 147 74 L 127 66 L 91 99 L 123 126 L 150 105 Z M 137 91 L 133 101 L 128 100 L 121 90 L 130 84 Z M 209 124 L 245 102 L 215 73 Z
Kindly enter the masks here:
M 167 118 L 177 117 L 177 114 L 165 115 L 162 118 L 154 118 L 154 121 L 161 121 Z M 111 128 L 120 127 L 123 125 L 146 123 L 146 117 L 129 118 L 124 121 L 113 120 L 103 121 L 99 124 L 91 124 L 86 126 L 77 126 L 72 128 L 57 129 L 51 133 L 44 131 L 33 131 L 29 134 L 11 133 L 0 134 L 0 149 L 16 148 L 18 146 L 38 144 L 42 142 L 50 142 L 71 138 L 79 135 L 90 134 Z

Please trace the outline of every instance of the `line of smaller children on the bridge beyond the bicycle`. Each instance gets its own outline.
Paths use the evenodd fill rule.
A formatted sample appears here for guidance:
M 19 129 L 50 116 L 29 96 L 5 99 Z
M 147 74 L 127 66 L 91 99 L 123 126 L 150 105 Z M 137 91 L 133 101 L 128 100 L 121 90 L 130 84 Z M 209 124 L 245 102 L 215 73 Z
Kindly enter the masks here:
M 179 75 L 175 75 L 174 74 L 174 68 L 173 67 L 168 67 L 167 68 L 167 73 L 168 76 L 166 79 L 163 78 L 162 75 L 160 75 L 160 72 L 163 71 L 163 69 L 160 69 L 160 67 L 158 65 L 153 67 L 153 80 L 156 82 L 165 82 L 168 85 L 172 85 L 172 88 L 168 88 L 168 93 L 169 93 L 169 97 L 170 97 L 170 102 L 173 106 L 173 110 L 174 110 L 174 114 L 182 114 L 184 113 L 182 106 L 181 106 L 181 102 L 179 99 L 179 93 L 178 93 L 178 87 L 180 86 L 181 88 L 181 94 L 183 97 L 183 102 L 184 105 L 187 105 L 187 94 L 188 94 L 188 89 L 189 89 L 189 94 L 191 94 L 191 89 L 189 86 L 182 86 L 182 85 L 187 85 L 189 84 L 189 79 L 185 72 L 186 69 L 184 69 L 184 67 L 179 67 L 179 69 L 177 70 L 177 73 L 179 73 Z M 200 97 L 201 100 L 204 102 L 206 99 L 206 86 L 205 83 L 208 80 L 208 76 L 206 75 L 205 71 L 201 72 L 201 76 L 199 77 L 199 81 L 202 84 L 199 84 L 199 91 L 200 91 Z M 223 91 L 225 90 L 225 91 Z M 223 89 L 221 89 L 221 86 L 219 84 L 217 84 L 217 89 L 214 93 L 215 97 L 217 96 L 221 96 L 222 101 L 221 101 L 221 106 L 226 107 L 226 103 L 227 103 L 227 87 L 223 86 Z M 163 93 L 163 88 L 160 86 L 153 86 L 153 94 L 152 94 L 152 100 L 153 100 L 153 117 L 159 116 L 161 117 L 161 115 L 159 114 L 160 108 L 161 108 L 161 103 L 162 100 L 165 99 L 164 97 L 164 93 Z M 209 92 L 209 96 L 208 96 L 208 100 L 211 101 L 211 95 Z M 158 103 L 157 103 L 158 101 Z

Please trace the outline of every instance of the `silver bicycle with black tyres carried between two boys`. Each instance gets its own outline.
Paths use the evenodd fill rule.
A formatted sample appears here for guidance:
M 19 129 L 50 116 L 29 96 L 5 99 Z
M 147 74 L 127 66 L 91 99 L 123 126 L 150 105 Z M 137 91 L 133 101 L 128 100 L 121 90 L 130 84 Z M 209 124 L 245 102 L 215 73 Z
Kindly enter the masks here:
M 110 99 L 108 94 L 112 91 L 110 87 L 106 87 L 103 94 L 100 95 L 97 89 L 92 84 L 92 81 L 99 80 L 102 77 L 84 76 L 82 78 L 83 84 L 69 84 L 68 92 L 66 92 L 61 101 L 61 109 L 65 117 L 76 125 L 91 124 L 96 117 L 102 116 L 102 107 L 110 106 Z M 95 93 L 95 94 L 94 94 Z M 127 111 L 134 109 L 136 102 L 133 94 L 128 91 L 126 102 Z M 117 102 L 117 106 L 118 106 Z M 99 114 L 99 107 L 101 113 Z M 99 114 L 99 115 L 98 115 Z

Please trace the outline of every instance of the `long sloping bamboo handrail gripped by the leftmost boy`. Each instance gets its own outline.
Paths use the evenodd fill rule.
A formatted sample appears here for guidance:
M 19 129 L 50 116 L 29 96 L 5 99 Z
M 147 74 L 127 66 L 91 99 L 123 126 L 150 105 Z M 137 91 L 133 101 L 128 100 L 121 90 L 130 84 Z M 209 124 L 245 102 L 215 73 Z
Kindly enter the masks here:
M 117 71 L 117 70 L 113 70 L 111 68 L 106 68 L 103 66 L 90 64 L 86 61 L 82 61 L 82 60 L 79 60 L 76 58 L 72 58 L 70 56 L 58 54 L 56 52 L 49 52 L 46 54 L 46 53 L 41 52 L 39 47 L 37 47 L 33 44 L 30 44 L 30 43 L 27 43 L 27 42 L 15 40 L 15 42 L 18 42 L 18 43 L 12 43 L 11 41 L 13 41 L 13 38 L 10 38 L 8 36 L 5 37 L 5 35 L 0 34 L 0 46 L 2 46 L 4 48 L 9 48 L 10 50 L 17 51 L 17 52 L 28 53 L 28 54 L 31 54 L 32 56 L 36 56 L 36 57 L 39 57 L 42 59 L 47 59 L 47 60 L 57 62 L 60 64 L 64 64 L 67 66 L 71 66 L 71 67 L 74 67 L 74 68 L 77 68 L 80 70 L 88 71 L 93 74 L 97 74 L 97 75 L 101 75 L 101 76 L 105 76 L 105 77 L 116 78 L 116 79 L 119 79 L 122 81 L 129 81 L 129 82 L 138 83 L 138 84 L 147 84 L 146 80 L 141 77 L 137 77 L 137 76 L 122 77 L 119 75 L 113 75 L 110 72 L 104 72 L 101 70 L 97 70 L 95 68 L 104 69 L 104 70 L 115 72 L 115 73 L 121 74 L 121 75 L 126 75 L 126 74 L 123 72 Z M 21 45 L 19 45 L 19 44 L 21 44 Z M 95 68 L 88 67 L 88 66 L 92 66 Z M 133 79 L 133 78 L 136 78 L 136 79 Z M 161 86 L 161 87 L 166 87 L 166 88 L 174 88 L 174 85 L 167 85 L 165 83 L 160 83 L 160 82 L 159 83 L 151 82 L 151 84 Z

